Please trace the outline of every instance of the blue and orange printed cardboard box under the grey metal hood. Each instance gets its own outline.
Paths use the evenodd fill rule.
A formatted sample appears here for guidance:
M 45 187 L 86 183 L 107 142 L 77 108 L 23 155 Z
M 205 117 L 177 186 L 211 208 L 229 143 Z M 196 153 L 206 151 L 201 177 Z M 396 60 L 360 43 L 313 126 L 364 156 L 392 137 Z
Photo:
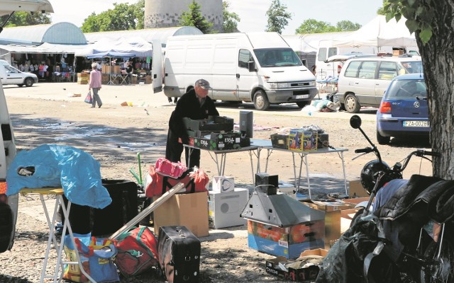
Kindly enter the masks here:
M 248 246 L 270 255 L 298 258 L 303 250 L 323 248 L 325 222 L 276 227 L 248 220 Z

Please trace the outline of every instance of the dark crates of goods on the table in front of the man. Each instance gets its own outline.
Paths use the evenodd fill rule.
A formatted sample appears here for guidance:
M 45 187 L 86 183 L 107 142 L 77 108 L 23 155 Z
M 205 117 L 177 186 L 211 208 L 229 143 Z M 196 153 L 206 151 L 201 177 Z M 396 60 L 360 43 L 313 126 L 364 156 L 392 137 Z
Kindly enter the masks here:
M 233 132 L 233 119 L 210 116 L 206 120 L 183 118 L 189 135 L 189 145 L 199 149 L 227 150 L 250 146 L 250 139 Z

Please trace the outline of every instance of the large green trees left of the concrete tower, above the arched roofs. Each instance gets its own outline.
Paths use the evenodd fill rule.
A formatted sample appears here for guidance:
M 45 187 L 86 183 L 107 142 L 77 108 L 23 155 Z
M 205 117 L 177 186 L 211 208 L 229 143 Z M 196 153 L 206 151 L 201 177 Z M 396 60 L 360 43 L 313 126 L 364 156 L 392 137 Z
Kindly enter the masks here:
M 143 29 L 145 15 L 145 0 L 135 4 L 117 4 L 114 8 L 99 13 L 92 13 L 82 23 L 82 32 L 94 33 L 112 30 L 140 30 Z

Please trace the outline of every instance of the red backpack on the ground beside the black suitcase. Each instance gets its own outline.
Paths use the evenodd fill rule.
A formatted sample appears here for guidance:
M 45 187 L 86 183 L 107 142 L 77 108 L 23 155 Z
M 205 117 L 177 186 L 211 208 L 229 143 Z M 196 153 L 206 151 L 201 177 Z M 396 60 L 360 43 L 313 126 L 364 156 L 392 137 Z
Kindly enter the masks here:
M 122 233 L 116 239 L 116 267 L 125 277 L 138 275 L 157 267 L 157 240 L 147 226 Z

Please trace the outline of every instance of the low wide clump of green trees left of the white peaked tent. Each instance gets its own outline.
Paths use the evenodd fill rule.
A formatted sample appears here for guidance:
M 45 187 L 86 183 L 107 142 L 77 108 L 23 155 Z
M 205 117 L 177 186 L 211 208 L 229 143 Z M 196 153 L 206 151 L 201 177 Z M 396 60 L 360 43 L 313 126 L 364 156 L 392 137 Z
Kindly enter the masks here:
M 336 26 L 331 25 L 323 21 L 316 21 L 313 18 L 301 23 L 299 28 L 295 30 L 295 33 L 333 33 L 338 31 L 353 31 L 361 28 L 359 23 L 352 23 L 350 21 L 340 21 Z

